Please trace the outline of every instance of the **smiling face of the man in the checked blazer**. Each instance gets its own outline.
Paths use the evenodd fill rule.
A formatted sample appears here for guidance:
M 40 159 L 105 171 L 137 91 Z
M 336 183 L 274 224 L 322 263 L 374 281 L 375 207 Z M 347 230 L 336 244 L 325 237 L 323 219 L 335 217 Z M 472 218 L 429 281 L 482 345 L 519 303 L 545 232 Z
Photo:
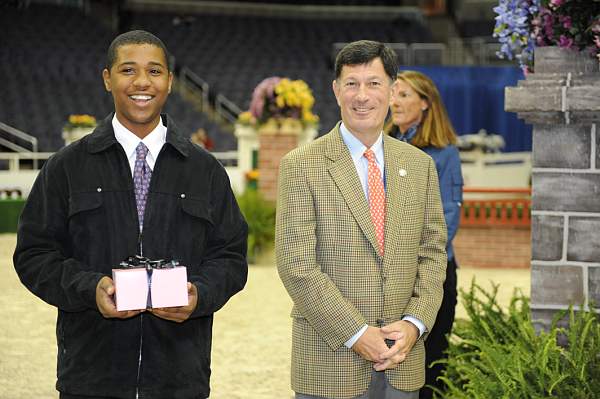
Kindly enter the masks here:
M 391 82 L 381 59 L 344 65 L 333 92 L 344 126 L 370 147 L 381 133 L 390 101 Z

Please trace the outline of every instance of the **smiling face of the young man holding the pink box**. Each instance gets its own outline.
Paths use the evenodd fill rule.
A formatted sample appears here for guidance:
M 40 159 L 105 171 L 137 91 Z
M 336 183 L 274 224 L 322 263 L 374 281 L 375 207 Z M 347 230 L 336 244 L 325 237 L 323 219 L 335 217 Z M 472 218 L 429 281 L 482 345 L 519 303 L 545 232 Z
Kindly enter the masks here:
M 160 122 L 160 111 L 171 92 L 173 75 L 165 53 L 152 44 L 126 44 L 117 49 L 117 58 L 102 71 L 119 122 L 140 138 Z

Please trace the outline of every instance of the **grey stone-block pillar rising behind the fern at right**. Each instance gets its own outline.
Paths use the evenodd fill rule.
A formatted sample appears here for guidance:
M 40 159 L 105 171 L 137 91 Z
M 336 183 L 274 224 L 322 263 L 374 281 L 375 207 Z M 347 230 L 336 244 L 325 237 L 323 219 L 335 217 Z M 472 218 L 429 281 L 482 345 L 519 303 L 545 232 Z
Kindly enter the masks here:
M 531 311 L 600 306 L 600 73 L 587 53 L 540 47 L 535 73 L 505 90 L 533 124 Z M 510 250 L 510 248 L 508 248 Z

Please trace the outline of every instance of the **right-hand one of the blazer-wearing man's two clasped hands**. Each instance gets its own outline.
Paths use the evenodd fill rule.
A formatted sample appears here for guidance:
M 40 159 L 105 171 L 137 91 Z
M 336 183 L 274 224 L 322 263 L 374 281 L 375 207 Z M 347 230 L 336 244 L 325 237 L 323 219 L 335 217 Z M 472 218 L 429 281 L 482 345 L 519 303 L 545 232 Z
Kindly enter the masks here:
M 381 333 L 385 339 L 396 342 L 380 355 L 382 360 L 375 364 L 377 371 L 394 368 L 402 363 L 419 338 L 417 326 L 406 320 L 396 321 L 382 327 Z

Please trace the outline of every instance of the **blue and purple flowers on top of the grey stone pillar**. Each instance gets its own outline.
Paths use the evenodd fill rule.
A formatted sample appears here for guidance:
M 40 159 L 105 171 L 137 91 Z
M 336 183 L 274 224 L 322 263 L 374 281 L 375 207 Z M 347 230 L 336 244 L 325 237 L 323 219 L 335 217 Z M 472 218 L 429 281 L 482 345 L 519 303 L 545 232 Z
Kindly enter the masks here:
M 600 0 L 500 0 L 494 11 L 498 56 L 517 59 L 525 72 L 541 46 L 600 55 Z

